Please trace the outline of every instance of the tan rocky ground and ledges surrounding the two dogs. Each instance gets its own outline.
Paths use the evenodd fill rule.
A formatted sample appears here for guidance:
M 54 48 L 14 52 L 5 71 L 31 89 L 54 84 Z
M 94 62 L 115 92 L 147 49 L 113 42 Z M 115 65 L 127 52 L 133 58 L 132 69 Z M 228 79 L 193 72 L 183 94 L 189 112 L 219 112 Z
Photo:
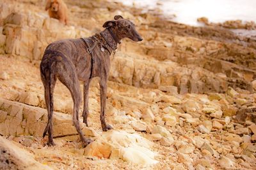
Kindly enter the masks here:
M 237 36 L 228 22 L 190 27 L 119 3 L 65 2 L 67 26 L 48 17 L 45 2 L 0 0 L 1 169 L 256 169 L 255 38 Z M 89 127 L 81 120 L 94 141 L 83 148 L 70 93 L 57 81 L 56 146 L 45 146 L 38 68 L 45 46 L 91 36 L 116 14 L 132 20 L 144 41 L 125 39 L 111 61 L 107 121 L 114 130 L 100 127 L 95 78 Z

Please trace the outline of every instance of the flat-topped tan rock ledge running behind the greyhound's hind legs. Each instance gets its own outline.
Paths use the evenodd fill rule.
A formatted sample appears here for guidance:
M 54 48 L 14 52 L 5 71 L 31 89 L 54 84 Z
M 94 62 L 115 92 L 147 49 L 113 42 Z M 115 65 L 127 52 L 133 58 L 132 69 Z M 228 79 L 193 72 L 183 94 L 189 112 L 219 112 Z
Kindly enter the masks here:
M 54 137 L 77 134 L 71 115 L 54 112 L 52 122 Z M 0 134 L 4 136 L 42 136 L 46 123 L 46 110 L 0 99 Z M 97 132 L 85 127 L 83 123 L 81 123 L 81 129 L 86 136 L 99 136 Z

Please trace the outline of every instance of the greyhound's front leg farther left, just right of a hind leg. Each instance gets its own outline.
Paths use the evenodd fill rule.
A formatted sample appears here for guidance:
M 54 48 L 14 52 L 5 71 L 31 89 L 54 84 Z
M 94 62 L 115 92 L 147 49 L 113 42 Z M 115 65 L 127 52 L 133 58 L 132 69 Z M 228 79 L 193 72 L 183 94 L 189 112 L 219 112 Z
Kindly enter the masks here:
M 88 117 L 88 97 L 89 97 L 89 87 L 92 79 L 84 81 L 84 109 L 83 109 L 83 122 L 88 127 L 87 117 Z

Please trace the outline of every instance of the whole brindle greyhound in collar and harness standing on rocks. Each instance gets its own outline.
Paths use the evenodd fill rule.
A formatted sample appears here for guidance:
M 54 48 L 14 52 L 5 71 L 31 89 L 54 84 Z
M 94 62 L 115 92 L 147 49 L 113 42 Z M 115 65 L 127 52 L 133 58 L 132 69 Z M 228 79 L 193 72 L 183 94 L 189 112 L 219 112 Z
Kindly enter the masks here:
M 114 17 L 103 25 L 106 28 L 99 34 L 89 38 L 63 39 L 47 46 L 40 64 L 41 79 L 44 84 L 45 104 L 48 112 L 48 122 L 44 135 L 48 132 L 47 145 L 53 146 L 52 139 L 52 114 L 53 114 L 53 90 L 57 78 L 70 90 L 73 102 L 73 123 L 86 146 L 91 139 L 84 138 L 79 126 L 79 106 L 81 104 L 81 92 L 79 80 L 84 82 L 84 107 L 83 122 L 88 126 L 88 91 L 93 77 L 100 78 L 100 122 L 103 131 L 112 127 L 106 124 L 106 93 L 107 81 L 110 69 L 110 55 L 115 52 L 122 38 L 133 41 L 142 41 L 134 24 L 120 15 Z

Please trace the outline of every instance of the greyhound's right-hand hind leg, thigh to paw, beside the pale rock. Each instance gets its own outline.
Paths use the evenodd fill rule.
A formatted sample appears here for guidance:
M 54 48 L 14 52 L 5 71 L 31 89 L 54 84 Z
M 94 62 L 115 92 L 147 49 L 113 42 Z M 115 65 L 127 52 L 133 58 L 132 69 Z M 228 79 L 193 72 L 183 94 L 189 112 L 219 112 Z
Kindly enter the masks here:
M 76 68 L 74 66 L 71 66 L 70 63 L 65 62 L 62 62 L 60 67 L 62 67 L 63 69 L 58 71 L 58 78 L 61 83 L 63 83 L 68 88 L 68 90 L 70 90 L 74 102 L 73 124 L 76 127 L 76 131 L 78 132 L 83 145 L 86 146 L 91 143 L 92 140 L 84 138 L 83 132 L 81 131 L 79 125 L 79 106 L 81 104 L 81 91 L 76 74 Z

